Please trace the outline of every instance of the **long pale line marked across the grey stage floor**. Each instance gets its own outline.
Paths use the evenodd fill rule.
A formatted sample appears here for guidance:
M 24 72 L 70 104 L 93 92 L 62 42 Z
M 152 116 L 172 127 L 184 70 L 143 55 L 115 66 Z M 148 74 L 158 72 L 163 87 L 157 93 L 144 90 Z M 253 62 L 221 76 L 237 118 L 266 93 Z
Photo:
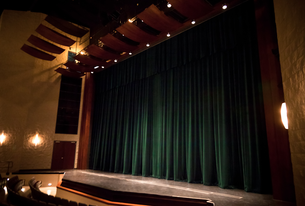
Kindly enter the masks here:
M 228 194 L 223 194 L 223 193 L 215 193 L 215 192 L 210 192 L 210 191 L 205 191 L 205 190 L 192 189 L 192 188 L 180 187 L 180 186 L 174 186 L 174 185 L 167 185 L 167 184 L 157 183 L 157 182 L 149 182 L 149 181 L 144 181 L 144 180 L 124 178 L 124 177 L 115 177 L 115 176 L 112 176 L 112 175 L 105 175 L 105 174 L 99 174 L 99 173 L 93 173 L 93 172 L 84 172 L 84 171 L 77 171 L 77 172 L 81 172 L 81 173 L 85 173 L 85 174 L 89 174 L 89 175 L 97 175 L 97 176 L 102 176 L 102 177 L 127 180 L 127 181 L 132 181 L 132 182 L 145 183 L 145 184 L 149 184 L 149 185 L 169 187 L 169 188 L 173 188 L 173 189 L 187 190 L 187 191 L 203 193 L 203 194 L 214 194 L 214 195 L 220 195 L 220 196 L 225 196 L 225 197 L 232 197 L 232 198 L 237 198 L 237 199 L 241 199 L 242 198 L 242 197 L 238 197 L 238 196 L 234 196 L 234 195 L 228 195 Z

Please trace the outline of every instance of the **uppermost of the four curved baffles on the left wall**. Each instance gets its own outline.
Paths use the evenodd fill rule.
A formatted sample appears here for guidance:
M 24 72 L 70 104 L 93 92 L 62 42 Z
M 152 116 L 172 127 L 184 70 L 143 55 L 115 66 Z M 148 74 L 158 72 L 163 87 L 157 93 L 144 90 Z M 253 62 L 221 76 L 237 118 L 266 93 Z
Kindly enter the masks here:
M 59 30 L 66 32 L 67 34 L 70 34 L 73 36 L 82 37 L 85 34 L 87 34 L 89 31 L 86 29 L 79 28 L 78 26 L 75 26 L 74 24 L 72 24 L 68 21 L 65 21 L 65 20 L 62 20 L 62 19 L 59 19 L 56 17 L 47 16 L 47 17 L 45 17 L 45 20 L 48 23 L 55 26 L 56 28 L 58 28 Z

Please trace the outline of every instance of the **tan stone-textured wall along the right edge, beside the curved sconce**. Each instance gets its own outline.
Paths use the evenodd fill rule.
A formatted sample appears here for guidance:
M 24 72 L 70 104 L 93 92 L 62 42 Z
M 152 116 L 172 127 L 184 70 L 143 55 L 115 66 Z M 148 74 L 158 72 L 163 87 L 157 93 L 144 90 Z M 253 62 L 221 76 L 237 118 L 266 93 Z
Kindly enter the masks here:
M 274 0 L 297 205 L 305 205 L 304 0 Z

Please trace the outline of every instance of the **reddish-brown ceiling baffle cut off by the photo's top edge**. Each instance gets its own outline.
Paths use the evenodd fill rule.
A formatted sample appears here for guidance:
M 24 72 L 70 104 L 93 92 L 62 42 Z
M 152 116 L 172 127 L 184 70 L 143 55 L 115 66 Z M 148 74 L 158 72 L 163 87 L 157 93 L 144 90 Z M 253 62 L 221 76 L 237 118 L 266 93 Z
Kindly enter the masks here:
M 190 19 L 203 17 L 213 10 L 213 8 L 202 0 L 168 0 L 174 9 Z

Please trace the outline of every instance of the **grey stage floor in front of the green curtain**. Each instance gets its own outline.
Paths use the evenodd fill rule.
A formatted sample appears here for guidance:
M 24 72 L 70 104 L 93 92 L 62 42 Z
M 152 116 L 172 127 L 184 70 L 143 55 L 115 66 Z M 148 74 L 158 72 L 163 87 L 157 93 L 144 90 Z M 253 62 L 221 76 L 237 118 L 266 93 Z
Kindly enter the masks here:
M 215 203 L 215 206 L 296 205 L 280 200 L 273 200 L 272 195 L 247 193 L 241 189 L 222 189 L 218 186 L 204 186 L 203 184 L 191 184 L 187 182 L 176 182 L 173 180 L 123 175 L 120 173 L 95 170 L 68 170 L 63 176 L 63 182 L 64 181 L 77 182 L 113 191 L 210 199 Z

